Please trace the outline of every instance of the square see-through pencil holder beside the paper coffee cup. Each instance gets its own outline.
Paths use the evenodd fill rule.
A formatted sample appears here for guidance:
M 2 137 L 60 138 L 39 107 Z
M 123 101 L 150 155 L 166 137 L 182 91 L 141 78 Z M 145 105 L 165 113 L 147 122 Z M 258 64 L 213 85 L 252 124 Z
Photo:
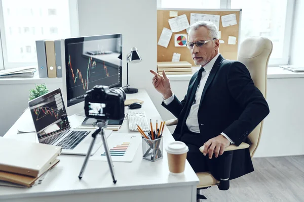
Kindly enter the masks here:
M 163 137 L 158 139 L 142 138 L 142 158 L 157 161 L 163 158 Z

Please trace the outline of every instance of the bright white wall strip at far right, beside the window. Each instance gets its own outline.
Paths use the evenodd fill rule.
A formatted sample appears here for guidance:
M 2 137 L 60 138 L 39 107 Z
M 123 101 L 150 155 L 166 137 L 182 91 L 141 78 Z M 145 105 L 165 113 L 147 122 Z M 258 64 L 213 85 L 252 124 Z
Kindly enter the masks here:
M 303 0 L 295 0 L 295 12 L 294 12 L 294 24 L 293 24 L 293 32 L 292 32 L 292 43 L 291 43 L 291 52 L 290 52 L 290 64 L 291 65 L 302 65 L 303 62 L 303 47 L 304 47 L 304 1 Z

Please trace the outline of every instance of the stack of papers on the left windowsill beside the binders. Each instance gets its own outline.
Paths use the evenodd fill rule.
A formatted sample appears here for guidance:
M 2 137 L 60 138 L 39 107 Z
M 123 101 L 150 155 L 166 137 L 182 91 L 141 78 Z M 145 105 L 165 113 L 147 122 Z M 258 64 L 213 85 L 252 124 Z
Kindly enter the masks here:
M 18 67 L 0 71 L 0 78 L 31 78 L 34 76 L 37 67 Z

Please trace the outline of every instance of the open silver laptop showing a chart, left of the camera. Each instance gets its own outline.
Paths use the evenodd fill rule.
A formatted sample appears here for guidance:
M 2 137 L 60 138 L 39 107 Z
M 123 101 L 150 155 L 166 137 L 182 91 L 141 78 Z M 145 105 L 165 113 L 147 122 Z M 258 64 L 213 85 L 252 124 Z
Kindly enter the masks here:
M 93 139 L 94 129 L 71 128 L 62 100 L 60 88 L 28 102 L 40 143 L 62 147 L 61 154 L 86 155 Z M 111 130 L 104 130 L 106 138 Z M 99 137 L 99 138 L 98 138 Z M 102 145 L 96 137 L 91 155 Z

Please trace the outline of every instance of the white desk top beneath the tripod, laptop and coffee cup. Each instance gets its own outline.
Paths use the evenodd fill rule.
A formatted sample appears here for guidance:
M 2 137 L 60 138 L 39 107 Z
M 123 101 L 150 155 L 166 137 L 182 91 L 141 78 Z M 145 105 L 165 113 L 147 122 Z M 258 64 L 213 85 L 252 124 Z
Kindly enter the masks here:
M 159 122 L 163 121 L 145 90 L 139 90 L 135 94 L 127 94 L 127 99 L 130 98 L 138 98 L 144 101 L 142 108 L 138 110 L 145 111 L 148 120 L 158 119 Z M 72 126 L 77 125 L 77 121 L 81 121 L 79 116 L 72 116 L 69 120 Z M 16 135 L 17 123 L 18 121 L 5 136 Z M 119 132 L 139 135 L 138 132 L 129 131 L 128 120 L 125 120 Z M 174 139 L 167 127 L 164 129 L 163 136 L 163 146 L 165 148 Z M 28 189 L 3 186 L 0 188 L 0 200 L 18 198 L 21 200 L 23 197 L 127 191 L 174 186 L 193 187 L 198 184 L 199 179 L 188 162 L 186 162 L 184 175 L 173 176 L 169 174 L 166 152 L 164 152 L 163 159 L 157 162 L 150 162 L 142 159 L 141 149 L 140 144 L 132 163 L 113 162 L 118 180 L 116 184 L 112 183 L 107 162 L 89 161 L 83 179 L 79 180 L 78 175 L 85 157 L 61 155 L 59 164 L 47 174 L 42 184 Z

